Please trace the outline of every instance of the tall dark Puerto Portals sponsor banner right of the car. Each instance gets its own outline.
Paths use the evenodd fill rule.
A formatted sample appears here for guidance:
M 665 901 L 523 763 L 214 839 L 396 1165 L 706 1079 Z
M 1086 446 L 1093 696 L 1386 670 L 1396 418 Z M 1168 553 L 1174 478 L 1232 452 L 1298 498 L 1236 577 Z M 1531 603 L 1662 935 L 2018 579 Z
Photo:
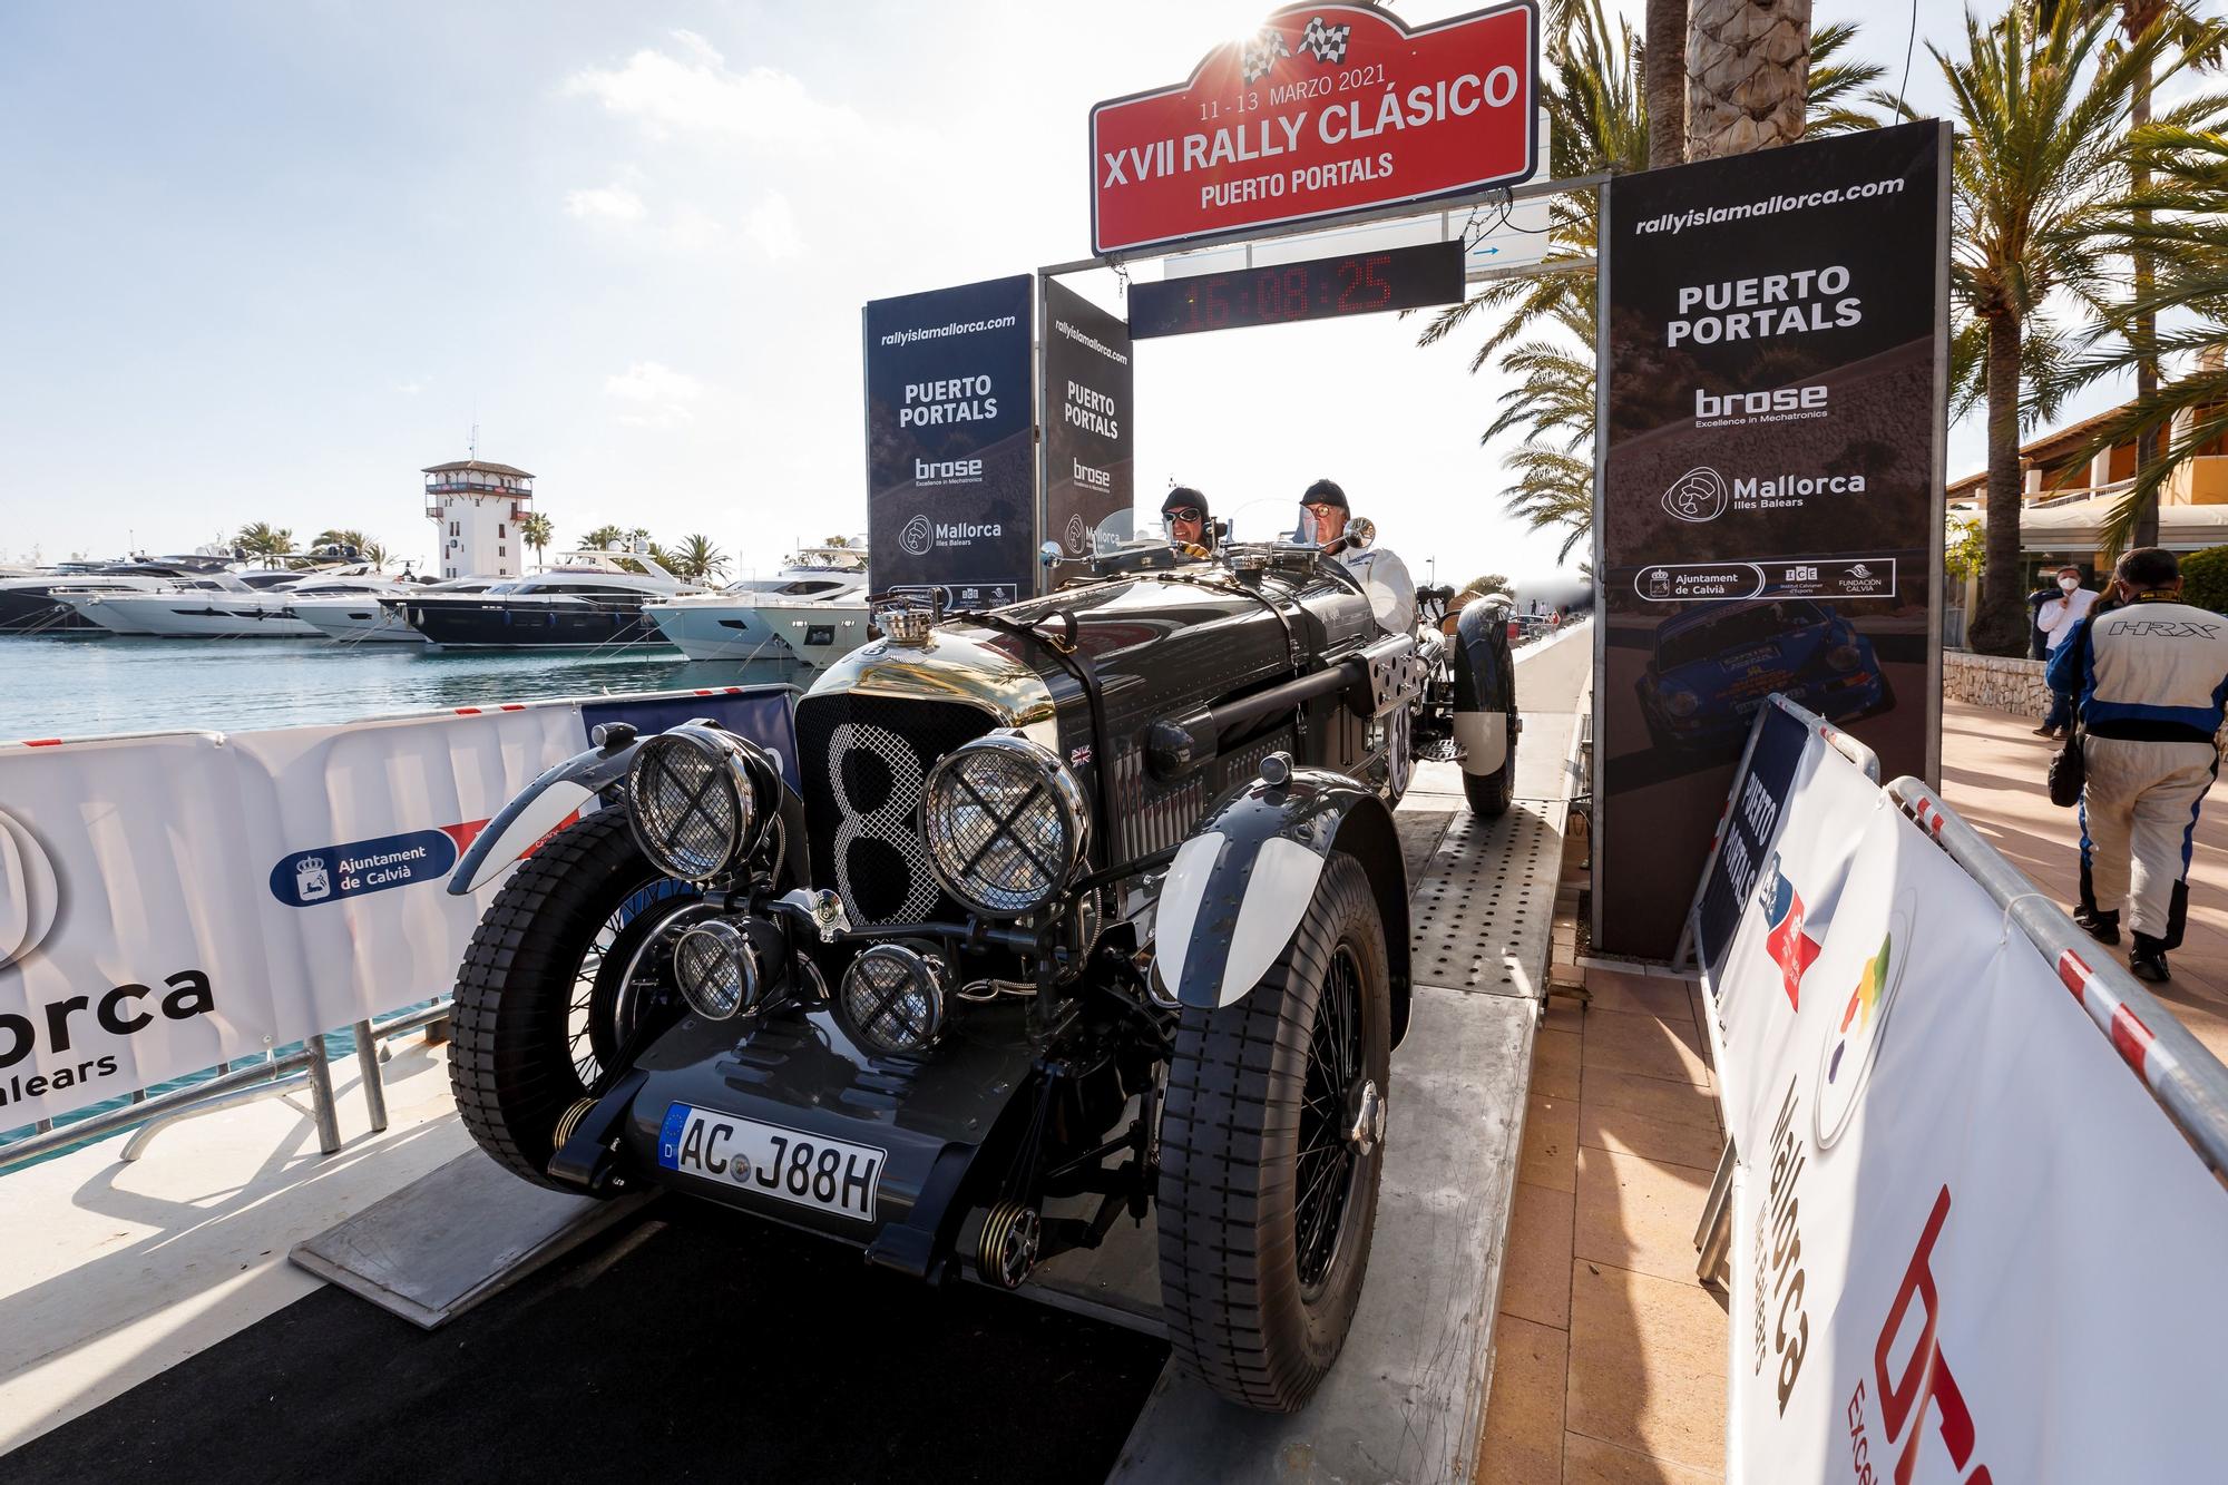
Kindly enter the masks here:
M 1932 778 L 1947 147 L 1900 125 L 1604 187 L 1595 941 L 1671 952 L 1765 696 Z

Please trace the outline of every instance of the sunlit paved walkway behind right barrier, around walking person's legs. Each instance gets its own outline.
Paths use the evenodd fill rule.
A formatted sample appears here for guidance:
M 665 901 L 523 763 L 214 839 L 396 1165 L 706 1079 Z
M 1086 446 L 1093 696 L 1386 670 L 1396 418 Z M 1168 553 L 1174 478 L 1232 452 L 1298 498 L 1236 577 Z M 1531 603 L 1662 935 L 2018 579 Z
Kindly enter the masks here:
M 1943 798 L 2059 905 L 2072 908 L 2081 890 L 2081 825 L 2072 809 L 2052 805 L 2043 787 L 2059 745 L 2036 738 L 2030 727 L 2027 718 L 1945 702 Z M 2128 963 L 2126 941 L 2117 959 Z M 2228 783 L 2212 785 L 2197 816 L 2190 925 L 2168 963 L 2175 979 L 2150 986 L 2152 994 L 2228 1061 Z

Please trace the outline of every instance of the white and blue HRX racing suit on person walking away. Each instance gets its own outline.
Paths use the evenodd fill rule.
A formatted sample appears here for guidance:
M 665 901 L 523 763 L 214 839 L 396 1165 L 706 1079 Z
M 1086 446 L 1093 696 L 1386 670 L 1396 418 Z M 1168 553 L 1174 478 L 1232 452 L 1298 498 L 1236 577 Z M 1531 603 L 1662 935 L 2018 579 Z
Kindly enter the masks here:
M 2081 905 L 2170 950 L 2188 916 L 2197 812 L 2219 774 L 2212 738 L 2228 698 L 2228 618 L 2137 600 L 2088 622 L 2050 658 L 2072 691 L 2081 758 Z

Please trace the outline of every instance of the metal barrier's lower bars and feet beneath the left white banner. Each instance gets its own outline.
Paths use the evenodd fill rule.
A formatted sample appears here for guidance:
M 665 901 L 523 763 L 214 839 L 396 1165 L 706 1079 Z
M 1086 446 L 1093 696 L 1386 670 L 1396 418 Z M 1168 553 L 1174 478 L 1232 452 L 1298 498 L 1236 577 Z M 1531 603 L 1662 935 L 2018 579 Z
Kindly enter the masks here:
M 363 1072 L 363 1101 L 370 1110 L 370 1133 L 377 1135 L 388 1128 L 388 1095 L 379 1070 L 379 1044 L 388 1037 L 399 1037 L 403 1032 L 446 1021 L 450 1008 L 450 1001 L 437 1001 L 434 1006 L 405 1010 L 383 1021 L 365 1019 L 352 1026 L 356 1037 L 356 1066 Z M 310 1110 L 316 1119 L 316 1148 L 321 1155 L 332 1155 L 341 1148 L 341 1117 L 332 1097 L 332 1064 L 325 1057 L 325 1032 L 319 1032 L 283 1057 L 265 1057 L 263 1061 L 245 1068 L 225 1066 L 205 1084 L 174 1088 L 156 1097 L 143 1097 L 136 1093 L 129 1104 L 98 1113 L 91 1119 L 78 1119 L 62 1126 L 53 1126 L 51 1119 L 40 1119 L 36 1135 L 11 1146 L 0 1146 L 0 1175 L 40 1159 L 42 1155 L 87 1144 L 91 1139 L 105 1139 L 118 1130 L 131 1128 L 134 1124 L 140 1128 L 125 1142 L 118 1159 L 138 1159 L 147 1153 L 147 1146 L 158 1133 L 180 1119 L 196 1119 L 201 1115 L 238 1108 L 241 1104 L 252 1104 L 256 1099 L 294 1093 L 303 1084 L 310 1086 Z

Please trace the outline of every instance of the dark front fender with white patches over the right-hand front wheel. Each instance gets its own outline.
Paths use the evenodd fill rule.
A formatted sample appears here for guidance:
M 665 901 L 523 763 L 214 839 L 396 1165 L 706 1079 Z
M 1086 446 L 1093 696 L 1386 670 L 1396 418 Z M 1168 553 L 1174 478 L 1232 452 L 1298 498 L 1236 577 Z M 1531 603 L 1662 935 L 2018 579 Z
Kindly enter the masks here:
M 1395 1026 L 1404 1023 L 1408 881 L 1393 812 L 1328 769 L 1292 769 L 1281 785 L 1241 785 L 1176 847 L 1154 910 L 1154 974 L 1163 990 L 1205 1010 L 1245 999 L 1292 941 L 1332 850 L 1357 854 L 1370 876 L 1393 968 Z

